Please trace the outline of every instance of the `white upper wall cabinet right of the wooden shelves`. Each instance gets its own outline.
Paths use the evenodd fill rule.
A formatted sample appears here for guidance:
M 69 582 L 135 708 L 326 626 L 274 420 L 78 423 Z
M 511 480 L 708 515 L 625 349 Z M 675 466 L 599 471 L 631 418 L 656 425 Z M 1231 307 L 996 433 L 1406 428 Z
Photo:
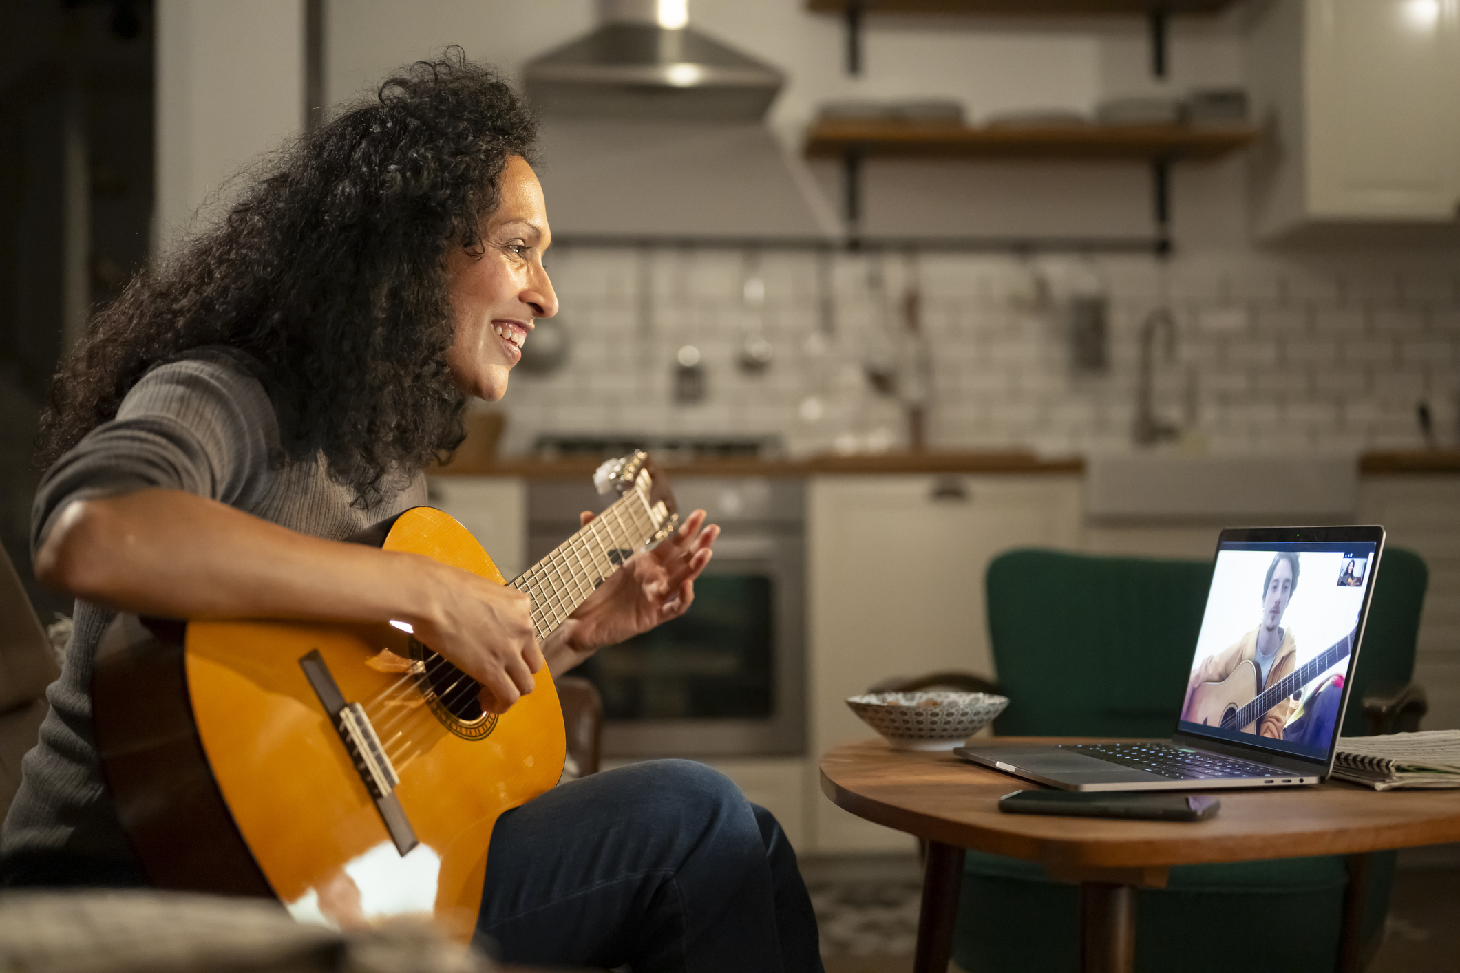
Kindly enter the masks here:
M 1259 236 L 1456 219 L 1460 1 L 1261 4 L 1247 77 L 1267 127 L 1253 166 Z

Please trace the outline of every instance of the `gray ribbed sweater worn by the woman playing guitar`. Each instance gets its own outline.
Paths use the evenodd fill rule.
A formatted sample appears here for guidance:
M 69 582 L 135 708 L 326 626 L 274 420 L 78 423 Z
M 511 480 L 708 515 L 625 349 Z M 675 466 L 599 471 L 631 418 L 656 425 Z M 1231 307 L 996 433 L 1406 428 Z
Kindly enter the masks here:
M 352 506 L 323 461 L 270 464 L 279 423 L 248 356 L 201 349 L 147 372 L 117 417 L 93 429 L 51 467 L 35 496 L 32 551 L 72 500 L 168 487 L 206 496 L 274 524 L 340 540 L 425 503 L 416 473 L 372 508 Z M 111 613 L 76 602 L 61 677 L 47 690 L 51 712 L 22 761 L 20 789 L 0 830 L 0 856 L 58 855 L 133 864 L 134 855 L 102 785 L 92 743 L 92 656 Z

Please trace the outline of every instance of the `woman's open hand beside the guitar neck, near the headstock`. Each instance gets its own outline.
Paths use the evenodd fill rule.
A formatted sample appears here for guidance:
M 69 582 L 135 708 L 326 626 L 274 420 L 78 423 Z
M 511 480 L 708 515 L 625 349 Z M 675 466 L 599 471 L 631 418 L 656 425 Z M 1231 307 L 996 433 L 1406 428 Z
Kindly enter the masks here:
M 578 516 L 584 527 L 593 519 L 587 511 Z M 714 524 L 701 530 L 704 522 L 705 512 L 695 511 L 654 550 L 629 557 L 548 636 L 543 654 L 553 677 L 606 645 L 648 632 L 689 610 L 695 601 L 695 578 L 710 563 L 711 546 L 720 537 Z

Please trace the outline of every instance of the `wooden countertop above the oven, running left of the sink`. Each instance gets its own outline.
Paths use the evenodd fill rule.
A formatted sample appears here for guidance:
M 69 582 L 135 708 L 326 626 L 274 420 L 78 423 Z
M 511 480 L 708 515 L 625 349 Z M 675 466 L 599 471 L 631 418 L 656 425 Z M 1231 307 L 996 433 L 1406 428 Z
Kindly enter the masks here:
M 583 478 L 591 476 L 599 460 L 504 458 L 495 462 L 451 462 L 434 467 L 429 476 L 498 476 L 527 480 Z M 1085 473 L 1079 457 L 1044 460 L 1032 452 L 885 452 L 856 457 L 810 457 L 807 460 L 698 460 L 661 464 L 670 476 L 721 477 L 804 477 L 818 474 L 895 474 L 895 473 L 984 473 L 984 474 L 1075 474 Z

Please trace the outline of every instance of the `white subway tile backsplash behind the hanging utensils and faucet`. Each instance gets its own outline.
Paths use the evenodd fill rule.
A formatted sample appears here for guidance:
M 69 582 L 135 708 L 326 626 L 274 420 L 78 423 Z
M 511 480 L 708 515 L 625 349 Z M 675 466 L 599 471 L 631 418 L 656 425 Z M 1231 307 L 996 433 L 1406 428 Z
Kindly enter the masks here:
M 1456 433 L 1460 276 L 1442 260 L 1397 265 L 1384 255 L 1247 255 L 1162 264 L 1139 255 L 931 254 L 911 265 L 902 255 L 838 254 L 831 334 L 822 325 L 818 260 L 761 254 L 753 268 L 765 284 L 759 327 L 775 360 L 756 376 L 736 365 L 753 324 L 743 254 L 555 254 L 550 271 L 571 354 L 552 375 L 514 375 L 495 407 L 510 417 L 504 449 L 526 451 L 540 432 L 594 430 L 780 433 L 797 455 L 838 442 L 901 446 L 902 407 L 870 388 L 864 363 L 896 360 L 902 301 L 914 280 L 933 353 L 933 446 L 1132 448 L 1139 336 L 1162 302 L 1178 334 L 1175 360 L 1156 349 L 1155 407 L 1164 419 L 1186 420 L 1194 406 L 1209 449 L 1415 446 L 1419 398 L 1442 419 L 1442 436 Z M 639 301 L 645 279 L 648 321 Z M 1108 366 L 1077 373 L 1066 302 L 1091 292 L 1108 301 Z M 673 401 L 673 354 L 682 344 L 701 350 L 702 403 Z M 812 394 L 822 410 L 807 420 L 802 403 Z

